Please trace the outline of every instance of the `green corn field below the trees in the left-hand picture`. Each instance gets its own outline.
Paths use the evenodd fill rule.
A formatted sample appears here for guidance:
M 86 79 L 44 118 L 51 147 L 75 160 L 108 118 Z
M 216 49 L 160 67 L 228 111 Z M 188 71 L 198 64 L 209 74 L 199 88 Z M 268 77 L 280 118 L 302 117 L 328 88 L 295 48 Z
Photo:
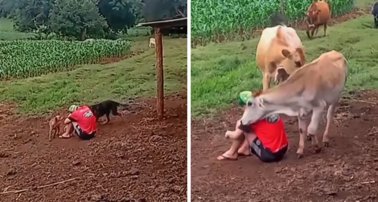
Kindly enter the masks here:
M 105 39 L 0 41 L 0 78 L 27 78 L 94 64 L 122 56 L 130 47 L 129 41 Z

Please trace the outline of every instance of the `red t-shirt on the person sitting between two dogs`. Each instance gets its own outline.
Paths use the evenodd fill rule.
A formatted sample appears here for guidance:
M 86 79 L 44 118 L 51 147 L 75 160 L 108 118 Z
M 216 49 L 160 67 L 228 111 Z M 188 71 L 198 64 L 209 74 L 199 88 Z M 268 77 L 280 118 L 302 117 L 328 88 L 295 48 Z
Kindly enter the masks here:
M 77 122 L 81 130 L 86 134 L 92 134 L 97 131 L 96 117 L 86 105 L 80 106 L 68 118 L 71 121 Z

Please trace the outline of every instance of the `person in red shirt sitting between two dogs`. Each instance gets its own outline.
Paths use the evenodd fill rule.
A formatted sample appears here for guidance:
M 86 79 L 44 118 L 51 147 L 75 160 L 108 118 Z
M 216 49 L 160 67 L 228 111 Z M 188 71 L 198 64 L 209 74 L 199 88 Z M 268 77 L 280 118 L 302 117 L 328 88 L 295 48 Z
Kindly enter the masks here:
M 64 120 L 64 124 L 67 126 L 65 132 L 59 136 L 60 138 L 70 138 L 73 132 L 83 140 L 95 137 L 97 131 L 96 117 L 89 106 L 71 105 L 68 111 L 71 114 Z

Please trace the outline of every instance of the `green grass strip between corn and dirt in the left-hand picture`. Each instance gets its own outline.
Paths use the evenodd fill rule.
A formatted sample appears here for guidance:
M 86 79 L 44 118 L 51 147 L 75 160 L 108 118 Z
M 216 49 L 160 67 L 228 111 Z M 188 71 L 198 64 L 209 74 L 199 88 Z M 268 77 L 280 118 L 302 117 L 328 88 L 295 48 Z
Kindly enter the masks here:
M 148 46 L 148 37 L 134 40 L 132 50 Z M 187 39 L 164 37 L 165 93 L 187 86 Z M 42 115 L 69 104 L 93 104 L 155 95 L 154 49 L 107 65 L 84 65 L 72 71 L 0 82 L 0 102 L 16 102 L 22 114 Z

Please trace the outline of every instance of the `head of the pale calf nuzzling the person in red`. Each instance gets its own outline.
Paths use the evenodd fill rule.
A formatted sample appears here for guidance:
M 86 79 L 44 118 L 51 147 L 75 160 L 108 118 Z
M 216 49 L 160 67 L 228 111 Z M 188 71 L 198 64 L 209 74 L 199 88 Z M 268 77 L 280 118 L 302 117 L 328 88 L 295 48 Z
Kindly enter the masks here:
M 253 101 L 248 101 L 244 109 L 241 124 L 243 126 L 254 123 L 267 114 L 264 106 L 264 99 L 262 97 L 256 97 Z

